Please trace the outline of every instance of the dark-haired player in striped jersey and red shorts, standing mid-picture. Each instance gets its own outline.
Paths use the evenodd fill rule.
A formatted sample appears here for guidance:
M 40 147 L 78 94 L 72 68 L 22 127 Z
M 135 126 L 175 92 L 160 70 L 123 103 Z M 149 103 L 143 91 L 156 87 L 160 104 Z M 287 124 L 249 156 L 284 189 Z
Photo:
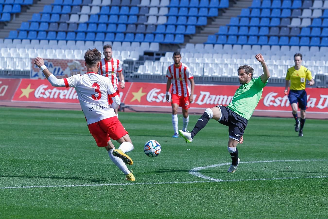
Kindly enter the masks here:
M 172 105 L 172 125 L 174 129 L 173 138 L 178 138 L 178 107 L 182 107 L 182 130 L 187 131 L 189 122 L 188 109 L 190 103 L 194 100 L 195 81 L 189 67 L 183 64 L 181 54 L 174 52 L 174 64 L 170 65 L 166 72 L 166 100 L 169 101 L 169 90 L 171 90 L 171 105 Z

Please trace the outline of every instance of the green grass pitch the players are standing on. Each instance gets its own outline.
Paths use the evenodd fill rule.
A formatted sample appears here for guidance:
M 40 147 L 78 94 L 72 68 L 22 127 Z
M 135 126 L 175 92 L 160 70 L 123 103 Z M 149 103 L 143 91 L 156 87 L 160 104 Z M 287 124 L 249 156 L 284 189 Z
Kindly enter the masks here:
M 252 117 L 231 174 L 226 126 L 210 120 L 187 144 L 171 137 L 170 113 L 120 112 L 134 144 L 128 182 L 81 111 L 0 111 L 0 218 L 328 218 L 327 120 L 306 120 L 300 138 L 292 118 Z M 143 152 L 152 139 L 156 158 Z

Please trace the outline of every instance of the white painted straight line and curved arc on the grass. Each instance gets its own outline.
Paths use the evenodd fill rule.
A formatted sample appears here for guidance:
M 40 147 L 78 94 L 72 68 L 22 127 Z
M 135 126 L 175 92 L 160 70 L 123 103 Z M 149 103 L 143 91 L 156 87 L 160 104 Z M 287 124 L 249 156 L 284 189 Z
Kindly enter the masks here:
M 293 161 L 327 161 L 327 160 L 276 160 L 276 161 L 248 161 L 240 163 L 270 163 L 270 162 L 293 162 Z M 229 165 L 230 163 L 214 164 L 210 166 L 196 167 L 189 171 L 190 174 L 207 179 L 206 181 L 185 181 L 185 182 L 157 182 L 157 183 L 109 183 L 109 184 L 82 184 L 82 185 L 46 185 L 46 186 L 7 186 L 0 187 L 0 189 L 16 189 L 16 188 L 54 188 L 54 187 L 87 187 L 87 186 L 133 186 L 133 185 L 162 185 L 162 184 L 189 184 L 189 183 L 215 183 L 215 182 L 240 182 L 240 181 L 266 181 L 266 180 L 287 180 L 287 179 L 320 179 L 328 178 L 328 176 L 307 176 L 307 177 L 279 177 L 279 178 L 261 178 L 261 179 L 234 179 L 234 180 L 220 180 L 198 173 L 198 170 L 211 168 L 222 165 Z

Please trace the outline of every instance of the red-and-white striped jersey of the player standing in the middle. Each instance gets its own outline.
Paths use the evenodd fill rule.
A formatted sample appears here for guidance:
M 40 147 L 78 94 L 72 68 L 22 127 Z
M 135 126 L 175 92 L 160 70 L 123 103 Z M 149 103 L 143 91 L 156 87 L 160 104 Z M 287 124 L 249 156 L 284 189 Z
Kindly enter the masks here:
M 188 66 L 181 62 L 180 67 L 175 67 L 174 64 L 170 65 L 166 72 L 166 77 L 172 79 L 171 94 L 179 96 L 190 96 L 190 81 L 194 76 Z

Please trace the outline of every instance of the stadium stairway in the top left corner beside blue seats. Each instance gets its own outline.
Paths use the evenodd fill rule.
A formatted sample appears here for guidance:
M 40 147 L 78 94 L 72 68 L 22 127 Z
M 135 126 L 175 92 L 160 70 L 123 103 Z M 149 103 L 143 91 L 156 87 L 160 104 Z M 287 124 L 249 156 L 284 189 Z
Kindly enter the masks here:
M 43 10 L 45 5 L 50 5 L 54 0 L 38 0 L 33 1 L 33 5 L 30 6 L 25 12 L 17 14 L 14 19 L 7 23 L 6 26 L 0 31 L 0 39 L 8 37 L 10 31 L 15 31 L 20 28 L 23 21 L 31 20 L 33 13 L 39 13 Z

